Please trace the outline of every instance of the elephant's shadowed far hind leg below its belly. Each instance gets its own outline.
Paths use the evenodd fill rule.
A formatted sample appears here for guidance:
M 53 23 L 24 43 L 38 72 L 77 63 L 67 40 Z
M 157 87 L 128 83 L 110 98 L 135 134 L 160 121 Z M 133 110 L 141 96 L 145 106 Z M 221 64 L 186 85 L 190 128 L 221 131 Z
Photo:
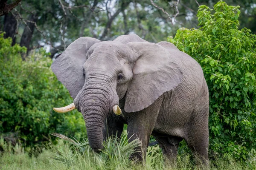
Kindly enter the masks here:
M 163 155 L 170 161 L 174 162 L 177 158 L 179 143 L 183 139 L 177 136 L 154 136 L 154 138 L 162 149 Z

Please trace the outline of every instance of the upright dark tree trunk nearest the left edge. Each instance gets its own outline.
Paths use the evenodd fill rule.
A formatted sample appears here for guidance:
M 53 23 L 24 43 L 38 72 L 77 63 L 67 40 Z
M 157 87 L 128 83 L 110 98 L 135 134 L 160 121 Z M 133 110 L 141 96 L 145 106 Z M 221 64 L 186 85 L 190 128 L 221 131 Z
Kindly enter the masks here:
M 15 17 L 9 13 L 4 16 L 4 23 L 3 23 L 3 31 L 6 32 L 4 34 L 4 38 L 11 37 L 12 38 L 12 46 L 15 45 L 16 37 L 15 37 L 15 31 L 17 27 L 17 21 Z

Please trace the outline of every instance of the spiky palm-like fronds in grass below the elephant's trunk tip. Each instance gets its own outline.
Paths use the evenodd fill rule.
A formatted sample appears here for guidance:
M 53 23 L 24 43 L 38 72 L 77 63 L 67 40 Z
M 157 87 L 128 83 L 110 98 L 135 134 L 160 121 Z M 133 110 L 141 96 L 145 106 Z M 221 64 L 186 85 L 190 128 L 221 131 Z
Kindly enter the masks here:
M 138 152 L 135 148 L 140 146 L 138 139 L 128 143 L 127 135 L 122 136 L 121 139 L 111 136 L 103 142 L 104 149 L 100 153 L 95 153 L 89 146 L 87 139 L 84 139 L 83 142 L 78 142 L 76 139 L 70 139 L 59 133 L 52 133 L 52 135 L 70 142 L 72 145 L 70 150 L 73 151 L 72 154 L 66 154 L 65 150 L 61 152 L 52 147 L 53 152 L 56 154 L 53 159 L 65 164 L 67 167 L 78 166 L 90 170 L 127 169 L 133 164 L 129 157 L 132 153 Z

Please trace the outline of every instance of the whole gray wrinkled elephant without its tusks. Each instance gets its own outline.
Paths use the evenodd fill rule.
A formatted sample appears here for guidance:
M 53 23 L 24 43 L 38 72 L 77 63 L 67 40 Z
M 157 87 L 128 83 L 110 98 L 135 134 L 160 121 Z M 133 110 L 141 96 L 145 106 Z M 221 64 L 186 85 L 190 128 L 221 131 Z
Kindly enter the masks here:
M 169 159 L 185 139 L 207 164 L 208 87 L 201 66 L 172 43 L 149 43 L 135 34 L 104 42 L 81 37 L 53 62 L 52 71 L 83 114 L 96 152 L 106 136 L 120 137 L 127 124 L 130 141 L 142 142 L 133 155 L 138 159 L 145 159 L 152 134 Z M 121 116 L 113 113 L 114 105 Z

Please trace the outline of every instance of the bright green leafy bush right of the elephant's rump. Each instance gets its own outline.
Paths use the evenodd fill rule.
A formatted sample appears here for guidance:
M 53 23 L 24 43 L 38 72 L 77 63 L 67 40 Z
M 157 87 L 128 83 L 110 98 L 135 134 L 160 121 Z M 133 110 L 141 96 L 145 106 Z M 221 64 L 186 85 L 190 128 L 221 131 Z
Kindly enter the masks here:
M 238 29 L 239 6 L 198 9 L 201 28 L 169 38 L 202 66 L 209 88 L 209 148 L 239 159 L 256 147 L 256 35 Z

